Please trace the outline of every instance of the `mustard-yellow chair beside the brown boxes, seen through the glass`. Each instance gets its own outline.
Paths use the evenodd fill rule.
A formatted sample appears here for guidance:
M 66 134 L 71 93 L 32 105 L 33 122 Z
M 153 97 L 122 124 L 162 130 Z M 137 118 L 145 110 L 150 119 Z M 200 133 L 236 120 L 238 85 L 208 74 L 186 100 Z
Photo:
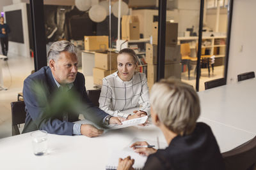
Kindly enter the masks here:
M 182 66 L 186 64 L 188 66 L 188 80 L 190 78 L 191 65 L 196 65 L 197 58 L 190 57 L 190 46 L 189 43 L 180 44 L 180 54 L 181 54 L 181 64 Z

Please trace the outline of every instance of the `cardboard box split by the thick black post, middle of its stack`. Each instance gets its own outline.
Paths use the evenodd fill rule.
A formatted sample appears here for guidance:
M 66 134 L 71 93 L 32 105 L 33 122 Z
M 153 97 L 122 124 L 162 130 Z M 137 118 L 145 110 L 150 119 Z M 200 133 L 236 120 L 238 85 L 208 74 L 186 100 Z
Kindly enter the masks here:
M 165 64 L 179 63 L 180 59 L 180 45 L 165 47 Z M 157 64 L 157 45 L 146 44 L 146 62 Z

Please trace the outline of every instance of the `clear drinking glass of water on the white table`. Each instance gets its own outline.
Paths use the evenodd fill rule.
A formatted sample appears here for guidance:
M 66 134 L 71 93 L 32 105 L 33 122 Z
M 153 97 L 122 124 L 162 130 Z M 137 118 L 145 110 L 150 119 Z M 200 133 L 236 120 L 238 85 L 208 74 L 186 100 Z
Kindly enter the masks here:
M 47 152 L 47 132 L 31 132 L 33 152 L 36 156 L 44 155 Z

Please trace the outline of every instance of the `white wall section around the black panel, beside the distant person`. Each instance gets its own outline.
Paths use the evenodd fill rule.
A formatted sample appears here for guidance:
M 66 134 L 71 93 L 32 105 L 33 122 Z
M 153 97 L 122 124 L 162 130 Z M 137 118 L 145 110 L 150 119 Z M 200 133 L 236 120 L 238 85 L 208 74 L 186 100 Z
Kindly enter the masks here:
M 21 10 L 22 14 L 22 28 L 24 43 L 16 43 L 9 41 L 9 52 L 19 54 L 24 57 L 29 57 L 29 34 L 28 34 L 28 17 L 26 3 L 17 3 L 9 6 L 4 6 L 3 11 Z M 12 31 L 12 28 L 10 28 Z

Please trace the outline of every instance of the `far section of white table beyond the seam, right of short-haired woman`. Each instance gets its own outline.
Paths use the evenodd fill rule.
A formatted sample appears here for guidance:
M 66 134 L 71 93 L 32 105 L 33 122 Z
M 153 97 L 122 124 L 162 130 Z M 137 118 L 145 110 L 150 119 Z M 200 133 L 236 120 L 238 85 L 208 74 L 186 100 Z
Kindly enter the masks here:
M 256 78 L 198 92 L 202 118 L 256 134 Z

